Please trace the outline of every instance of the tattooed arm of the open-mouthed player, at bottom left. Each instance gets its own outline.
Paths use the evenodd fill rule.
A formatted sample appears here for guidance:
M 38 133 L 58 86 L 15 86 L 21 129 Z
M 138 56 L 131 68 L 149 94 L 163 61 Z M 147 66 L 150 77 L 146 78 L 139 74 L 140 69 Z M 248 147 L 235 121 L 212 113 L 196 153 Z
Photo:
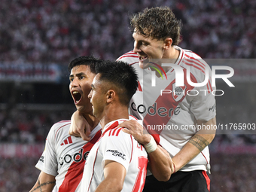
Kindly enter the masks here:
M 49 175 L 45 172 L 41 172 L 38 176 L 38 181 L 36 181 L 34 187 L 32 187 L 29 192 L 51 192 L 55 186 L 55 177 Z

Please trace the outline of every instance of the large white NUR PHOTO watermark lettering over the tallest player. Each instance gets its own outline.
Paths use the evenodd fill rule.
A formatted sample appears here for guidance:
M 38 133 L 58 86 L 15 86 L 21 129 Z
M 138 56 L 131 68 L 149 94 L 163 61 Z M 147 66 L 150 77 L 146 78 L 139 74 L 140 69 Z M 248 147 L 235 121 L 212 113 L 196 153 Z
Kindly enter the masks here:
M 160 90 L 161 96 L 163 94 L 169 94 L 169 93 L 172 93 L 173 96 L 175 97 L 181 97 L 184 95 L 197 96 L 198 94 L 200 94 L 200 92 L 205 93 L 205 95 L 207 92 L 208 93 L 211 92 L 212 95 L 214 96 L 222 96 L 224 95 L 224 90 L 216 90 L 216 79 L 220 79 L 224 81 L 229 87 L 235 87 L 231 83 L 231 81 L 228 79 L 233 77 L 234 75 L 234 70 L 230 66 L 212 66 L 212 70 L 211 70 L 207 66 L 199 67 L 199 66 L 191 65 L 187 68 L 184 68 L 183 66 L 179 66 L 173 63 L 162 63 L 161 66 L 157 65 L 157 63 L 155 62 L 151 62 L 151 63 L 158 67 L 157 69 L 154 66 L 150 66 L 152 69 L 154 69 L 151 71 L 152 87 L 156 87 L 156 71 L 160 74 L 163 80 L 165 80 L 163 78 L 163 75 L 165 75 L 166 80 L 168 80 L 164 69 L 169 69 L 175 72 L 175 82 L 172 84 L 172 90 L 169 90 L 169 89 Z M 196 68 L 196 70 L 193 69 L 193 67 Z M 163 75 L 159 69 L 161 70 Z M 218 74 L 218 72 L 221 72 L 221 74 Z M 198 77 L 200 77 L 200 75 L 201 76 L 203 75 L 203 78 L 201 78 L 201 79 L 204 79 L 203 81 L 201 82 L 193 81 Z M 171 79 L 169 81 L 171 81 Z M 200 87 L 200 88 L 186 90 L 188 86 Z

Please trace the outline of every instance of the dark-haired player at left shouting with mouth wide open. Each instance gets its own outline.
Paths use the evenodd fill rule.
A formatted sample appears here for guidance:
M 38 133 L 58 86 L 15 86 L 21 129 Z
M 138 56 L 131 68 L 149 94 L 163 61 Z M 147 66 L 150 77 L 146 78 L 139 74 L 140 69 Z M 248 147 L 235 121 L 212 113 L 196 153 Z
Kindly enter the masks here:
M 79 113 L 90 127 L 90 140 L 70 136 L 70 120 L 55 123 L 48 133 L 45 151 L 36 167 L 41 169 L 30 191 L 77 191 L 84 171 L 84 163 L 94 143 L 101 136 L 99 120 L 93 116 L 88 94 L 95 67 L 102 62 L 93 56 L 81 56 L 69 63 L 69 90 Z

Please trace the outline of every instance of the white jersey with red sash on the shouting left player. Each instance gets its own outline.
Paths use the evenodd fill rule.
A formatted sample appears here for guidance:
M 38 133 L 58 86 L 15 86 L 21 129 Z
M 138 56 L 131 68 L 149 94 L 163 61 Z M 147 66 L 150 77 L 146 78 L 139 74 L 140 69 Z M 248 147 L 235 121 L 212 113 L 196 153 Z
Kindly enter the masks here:
M 53 191 L 78 191 L 84 163 L 102 133 L 102 127 L 98 124 L 90 134 L 92 139 L 86 142 L 69 135 L 70 124 L 70 120 L 62 120 L 51 127 L 44 153 L 35 166 L 49 175 L 56 176 Z

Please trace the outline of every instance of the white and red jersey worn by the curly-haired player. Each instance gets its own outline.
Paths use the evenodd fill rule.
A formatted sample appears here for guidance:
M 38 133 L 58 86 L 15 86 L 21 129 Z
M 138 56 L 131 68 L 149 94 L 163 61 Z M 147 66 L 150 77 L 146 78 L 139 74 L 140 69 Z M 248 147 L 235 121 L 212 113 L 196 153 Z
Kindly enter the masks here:
M 143 120 L 145 128 L 171 157 L 183 148 L 187 141 L 197 133 L 195 120 L 210 120 L 216 115 L 215 96 L 212 91 L 212 74 L 209 65 L 196 53 L 180 50 L 175 65 L 184 73 L 184 86 L 175 86 L 175 70 L 170 69 L 161 78 L 155 78 L 152 85 L 151 68 L 139 68 L 139 56 L 130 51 L 117 60 L 128 62 L 139 75 L 139 87 L 130 102 L 130 114 Z M 160 70 L 160 69 L 159 69 Z M 206 72 L 209 80 L 203 87 L 194 87 L 187 82 L 202 83 Z M 209 148 L 206 147 L 181 171 L 206 170 L 209 167 Z

